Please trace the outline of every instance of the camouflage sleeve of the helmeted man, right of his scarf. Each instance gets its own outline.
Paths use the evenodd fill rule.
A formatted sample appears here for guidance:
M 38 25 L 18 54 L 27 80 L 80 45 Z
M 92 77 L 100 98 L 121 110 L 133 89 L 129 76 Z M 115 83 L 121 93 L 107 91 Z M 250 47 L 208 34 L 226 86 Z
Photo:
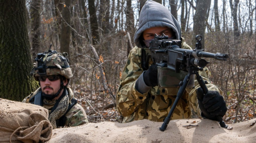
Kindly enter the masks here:
M 68 127 L 88 124 L 86 111 L 84 111 L 83 107 L 78 103 L 69 110 L 66 117 L 66 126 Z

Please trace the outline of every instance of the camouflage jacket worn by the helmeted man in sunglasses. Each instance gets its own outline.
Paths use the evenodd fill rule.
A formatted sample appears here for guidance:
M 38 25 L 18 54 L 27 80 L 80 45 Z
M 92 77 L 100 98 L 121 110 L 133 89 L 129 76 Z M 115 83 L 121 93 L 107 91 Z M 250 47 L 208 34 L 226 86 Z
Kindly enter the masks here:
M 39 91 L 41 91 L 40 88 L 38 88 L 34 93 L 31 93 L 29 96 L 27 96 L 22 102 L 29 103 L 29 100 L 35 96 Z M 74 94 L 70 88 L 67 87 L 67 91 L 69 93 L 69 101 L 71 103 L 71 99 L 74 98 Z M 51 112 L 51 109 L 53 108 L 54 104 L 51 105 L 43 105 L 43 107 L 47 108 L 49 113 Z M 86 115 L 86 111 L 84 111 L 83 107 L 76 103 L 67 113 L 66 113 L 66 122 L 65 126 L 67 127 L 74 127 L 79 126 L 83 124 L 88 123 L 88 118 Z

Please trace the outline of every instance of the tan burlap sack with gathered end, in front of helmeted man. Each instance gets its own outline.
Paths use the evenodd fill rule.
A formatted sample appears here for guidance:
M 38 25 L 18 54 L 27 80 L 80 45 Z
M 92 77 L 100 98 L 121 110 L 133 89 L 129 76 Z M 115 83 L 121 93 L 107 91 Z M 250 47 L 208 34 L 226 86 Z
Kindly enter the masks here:
M 48 141 L 52 136 L 48 116 L 41 106 L 0 98 L 0 142 Z

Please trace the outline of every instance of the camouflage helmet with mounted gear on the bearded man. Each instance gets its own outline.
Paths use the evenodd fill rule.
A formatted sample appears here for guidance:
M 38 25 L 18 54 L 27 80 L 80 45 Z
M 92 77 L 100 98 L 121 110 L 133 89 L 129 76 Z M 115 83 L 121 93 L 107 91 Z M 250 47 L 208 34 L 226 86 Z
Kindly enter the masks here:
M 73 74 L 67 56 L 67 52 L 61 54 L 55 50 L 38 53 L 35 58 L 36 63 L 34 63 L 30 75 L 33 75 L 37 81 L 39 81 L 39 76 L 47 75 L 62 75 L 65 78 L 70 79 Z

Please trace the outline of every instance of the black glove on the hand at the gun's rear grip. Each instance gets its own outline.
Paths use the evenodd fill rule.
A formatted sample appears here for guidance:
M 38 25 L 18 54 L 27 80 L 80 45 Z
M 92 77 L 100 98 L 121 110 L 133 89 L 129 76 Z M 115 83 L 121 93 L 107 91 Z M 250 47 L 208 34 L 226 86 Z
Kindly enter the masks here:
M 157 86 L 157 65 L 151 65 L 150 68 L 148 68 L 148 70 L 143 74 L 143 79 L 148 87 Z

